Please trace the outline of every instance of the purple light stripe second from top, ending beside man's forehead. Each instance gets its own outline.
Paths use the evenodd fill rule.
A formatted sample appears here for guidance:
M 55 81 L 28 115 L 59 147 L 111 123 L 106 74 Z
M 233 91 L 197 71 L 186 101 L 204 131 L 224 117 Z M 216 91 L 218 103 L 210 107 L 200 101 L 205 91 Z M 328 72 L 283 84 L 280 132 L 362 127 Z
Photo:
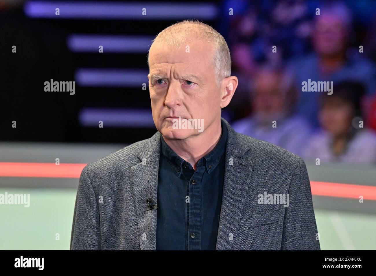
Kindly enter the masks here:
M 153 37 L 126 35 L 88 35 L 73 34 L 68 36 L 67 45 L 73 52 L 99 53 L 147 53 Z

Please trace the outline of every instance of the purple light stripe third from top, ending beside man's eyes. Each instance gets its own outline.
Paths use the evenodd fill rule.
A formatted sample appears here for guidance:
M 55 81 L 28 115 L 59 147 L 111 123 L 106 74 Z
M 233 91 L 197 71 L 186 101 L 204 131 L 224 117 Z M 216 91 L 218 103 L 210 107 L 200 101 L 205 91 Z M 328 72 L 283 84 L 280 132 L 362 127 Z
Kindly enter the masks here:
M 148 70 L 79 68 L 75 80 L 80 86 L 92 87 L 141 87 L 149 85 Z

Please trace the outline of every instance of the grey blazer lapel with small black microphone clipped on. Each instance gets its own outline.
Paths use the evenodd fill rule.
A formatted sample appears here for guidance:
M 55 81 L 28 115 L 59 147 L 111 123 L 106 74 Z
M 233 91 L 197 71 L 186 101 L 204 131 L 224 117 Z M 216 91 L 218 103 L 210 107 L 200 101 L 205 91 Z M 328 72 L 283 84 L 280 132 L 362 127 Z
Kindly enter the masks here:
M 141 162 L 129 169 L 141 250 L 156 249 L 157 210 L 146 210 L 146 199 L 151 198 L 152 204 L 156 204 L 158 200 L 161 134 L 157 132 L 149 140 L 148 148 L 136 153 Z

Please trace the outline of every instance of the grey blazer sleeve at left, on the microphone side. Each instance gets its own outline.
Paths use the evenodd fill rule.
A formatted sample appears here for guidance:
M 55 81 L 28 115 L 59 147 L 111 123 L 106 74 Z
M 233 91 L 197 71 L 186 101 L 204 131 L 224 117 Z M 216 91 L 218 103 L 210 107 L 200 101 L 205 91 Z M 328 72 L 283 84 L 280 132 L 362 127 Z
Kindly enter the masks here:
M 100 250 L 99 203 L 87 166 L 83 168 L 74 204 L 71 250 Z

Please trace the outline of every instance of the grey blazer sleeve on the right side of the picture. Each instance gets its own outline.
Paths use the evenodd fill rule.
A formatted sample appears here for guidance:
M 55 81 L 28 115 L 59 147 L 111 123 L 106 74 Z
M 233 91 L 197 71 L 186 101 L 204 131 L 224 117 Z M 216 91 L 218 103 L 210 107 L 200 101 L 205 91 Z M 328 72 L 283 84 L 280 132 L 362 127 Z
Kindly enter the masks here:
M 311 184 L 302 158 L 291 178 L 289 206 L 285 210 L 282 250 L 320 250 L 312 205 Z

